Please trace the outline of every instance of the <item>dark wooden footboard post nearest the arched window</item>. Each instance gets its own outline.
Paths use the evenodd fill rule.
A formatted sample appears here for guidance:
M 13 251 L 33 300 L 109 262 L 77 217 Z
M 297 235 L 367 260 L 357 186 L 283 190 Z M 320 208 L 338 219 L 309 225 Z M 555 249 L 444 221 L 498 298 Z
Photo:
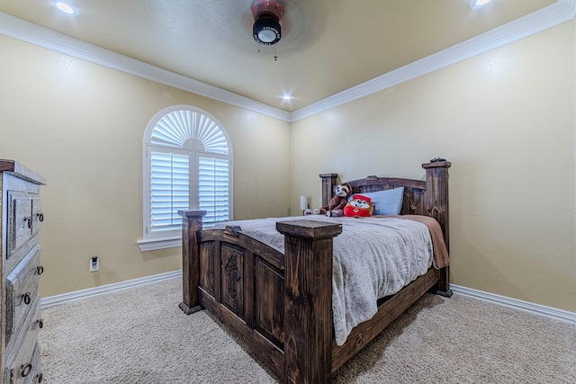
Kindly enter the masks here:
M 200 284 L 200 250 L 198 237 L 202 231 L 205 210 L 178 210 L 182 216 L 182 297 L 180 308 L 186 315 L 202 310 L 198 303 Z

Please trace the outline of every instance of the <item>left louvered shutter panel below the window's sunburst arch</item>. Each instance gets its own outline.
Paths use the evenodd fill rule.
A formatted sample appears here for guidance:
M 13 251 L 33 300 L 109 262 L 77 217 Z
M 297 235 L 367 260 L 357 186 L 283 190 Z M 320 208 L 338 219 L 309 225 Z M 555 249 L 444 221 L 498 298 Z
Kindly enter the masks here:
M 149 156 L 150 230 L 180 229 L 178 210 L 190 206 L 190 156 L 155 151 Z

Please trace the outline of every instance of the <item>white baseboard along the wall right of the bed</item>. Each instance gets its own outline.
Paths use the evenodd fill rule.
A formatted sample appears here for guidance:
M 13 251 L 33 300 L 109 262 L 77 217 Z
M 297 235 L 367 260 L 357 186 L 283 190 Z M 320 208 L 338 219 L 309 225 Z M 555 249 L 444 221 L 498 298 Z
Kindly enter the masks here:
M 496 295 L 494 293 L 484 292 L 482 290 L 473 290 L 471 288 L 461 287 L 458 285 L 450 284 L 450 288 L 457 294 L 488 301 L 492 304 L 497 304 L 503 307 L 514 308 L 523 312 L 528 312 L 533 315 L 544 316 L 563 323 L 576 326 L 576 313 L 569 312 L 563 309 L 546 307 L 539 304 L 530 303 L 528 301 L 511 299 L 506 296 Z

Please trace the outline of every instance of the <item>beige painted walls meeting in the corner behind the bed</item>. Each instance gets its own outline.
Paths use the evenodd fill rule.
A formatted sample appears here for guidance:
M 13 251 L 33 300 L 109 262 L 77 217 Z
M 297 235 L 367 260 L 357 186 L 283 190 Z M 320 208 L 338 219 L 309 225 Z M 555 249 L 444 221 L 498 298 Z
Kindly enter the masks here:
M 136 241 L 144 129 L 186 103 L 229 132 L 236 219 L 319 206 L 320 173 L 421 178 L 445 156 L 453 282 L 576 311 L 574 41 L 567 22 L 288 124 L 0 36 L 0 157 L 49 180 L 40 293 L 180 268 Z

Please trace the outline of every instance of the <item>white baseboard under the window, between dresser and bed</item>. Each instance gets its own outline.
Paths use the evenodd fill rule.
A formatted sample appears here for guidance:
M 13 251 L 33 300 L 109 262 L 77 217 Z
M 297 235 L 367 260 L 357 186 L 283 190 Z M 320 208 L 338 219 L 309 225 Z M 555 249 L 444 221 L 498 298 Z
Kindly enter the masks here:
M 118 292 L 120 290 L 127 290 L 129 288 L 140 287 L 143 285 L 153 284 L 155 282 L 166 281 L 170 279 L 179 278 L 182 276 L 182 271 L 173 271 L 159 273 L 152 276 L 141 277 L 139 279 L 115 282 L 112 284 L 102 285 L 100 287 L 88 288 L 86 290 L 76 290 L 74 292 L 63 293 L 61 295 L 50 296 L 49 298 L 40 300 L 41 308 L 49 308 L 59 304 L 66 304 L 71 301 L 79 299 L 93 298 L 95 296 L 104 295 L 107 293 Z

